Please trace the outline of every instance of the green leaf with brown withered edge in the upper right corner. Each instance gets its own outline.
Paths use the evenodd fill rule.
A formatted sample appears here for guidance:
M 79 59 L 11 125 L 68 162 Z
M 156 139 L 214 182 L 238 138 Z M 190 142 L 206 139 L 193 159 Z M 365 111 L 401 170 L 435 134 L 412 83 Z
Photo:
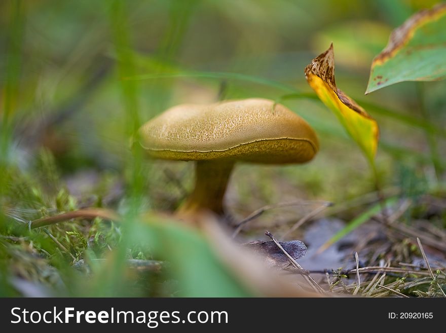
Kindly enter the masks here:
M 446 78 L 446 3 L 407 19 L 371 64 L 366 94 L 403 81 Z

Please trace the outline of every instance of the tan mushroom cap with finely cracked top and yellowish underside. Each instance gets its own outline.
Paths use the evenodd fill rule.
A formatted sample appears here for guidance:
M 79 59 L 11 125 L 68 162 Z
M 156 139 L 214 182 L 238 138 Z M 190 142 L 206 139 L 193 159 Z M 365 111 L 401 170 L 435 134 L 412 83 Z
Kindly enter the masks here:
M 262 98 L 177 105 L 140 128 L 140 144 L 150 156 L 168 160 L 311 160 L 319 150 L 314 130 L 285 106 L 273 106 Z

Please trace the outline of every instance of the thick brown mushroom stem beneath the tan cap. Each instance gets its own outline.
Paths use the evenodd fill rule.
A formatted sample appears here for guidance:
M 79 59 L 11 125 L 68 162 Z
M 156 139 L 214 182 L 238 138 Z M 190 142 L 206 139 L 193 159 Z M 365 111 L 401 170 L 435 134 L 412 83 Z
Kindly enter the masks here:
M 224 215 L 223 197 L 228 186 L 234 161 L 197 161 L 195 164 L 195 189 L 188 200 L 179 207 L 178 215 L 193 215 L 210 210 Z

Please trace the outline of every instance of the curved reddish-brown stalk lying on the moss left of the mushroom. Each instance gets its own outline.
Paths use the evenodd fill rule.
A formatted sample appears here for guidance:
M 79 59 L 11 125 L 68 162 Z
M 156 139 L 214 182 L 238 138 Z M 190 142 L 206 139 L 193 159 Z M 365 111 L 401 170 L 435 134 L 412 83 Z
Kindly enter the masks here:
M 121 220 L 121 217 L 113 210 L 104 209 L 104 208 L 86 208 L 86 209 L 70 211 L 70 212 L 55 215 L 55 216 L 43 217 L 43 218 L 33 220 L 30 223 L 30 228 L 34 229 L 34 228 L 45 227 L 45 226 L 56 224 L 58 222 L 67 221 L 72 218 L 93 219 L 95 217 L 102 217 L 102 218 L 114 220 L 114 221 Z

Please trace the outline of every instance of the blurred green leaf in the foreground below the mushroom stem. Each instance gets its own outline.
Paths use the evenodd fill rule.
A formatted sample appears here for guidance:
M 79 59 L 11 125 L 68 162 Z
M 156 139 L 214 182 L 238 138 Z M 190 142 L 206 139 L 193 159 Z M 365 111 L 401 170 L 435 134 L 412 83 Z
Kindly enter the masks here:
M 132 239 L 150 243 L 157 258 L 169 262 L 180 297 L 252 296 L 224 266 L 198 230 L 177 221 L 149 217 L 134 229 Z

